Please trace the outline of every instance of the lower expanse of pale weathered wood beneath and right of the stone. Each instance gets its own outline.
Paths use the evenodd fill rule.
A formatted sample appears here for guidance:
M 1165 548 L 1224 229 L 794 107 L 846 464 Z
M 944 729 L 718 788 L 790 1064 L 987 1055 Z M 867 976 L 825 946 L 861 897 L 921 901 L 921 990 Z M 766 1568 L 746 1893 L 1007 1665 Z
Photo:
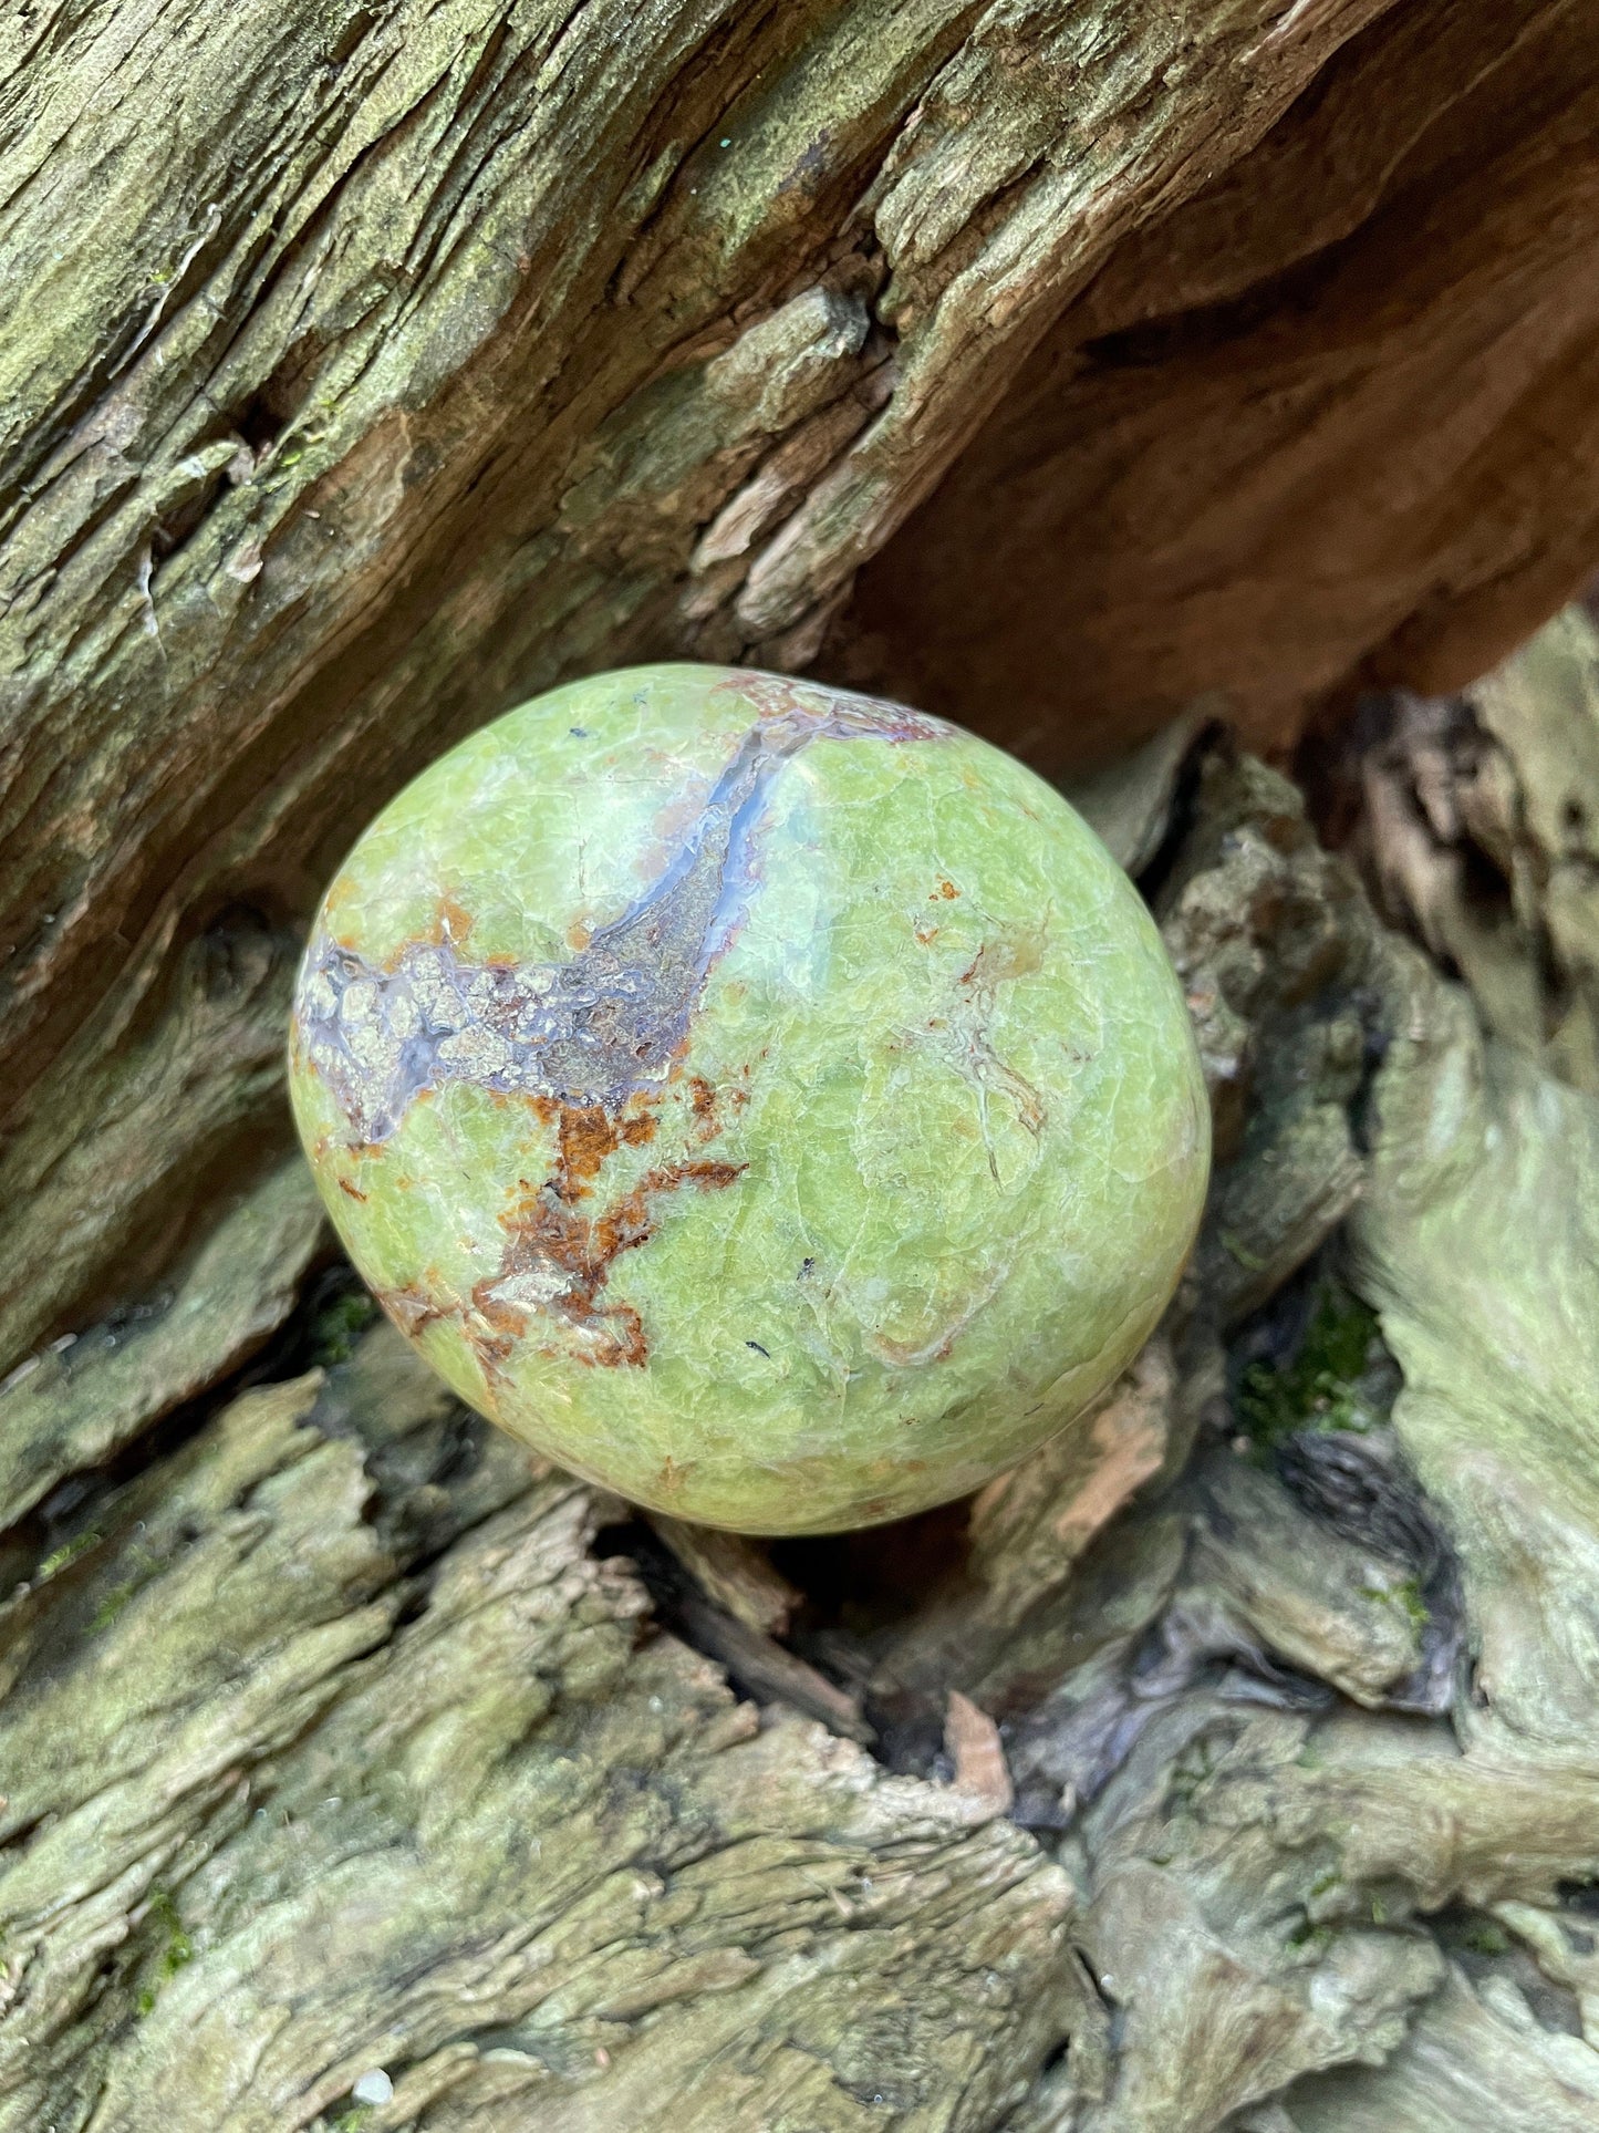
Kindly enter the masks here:
M 970 1510 L 657 1536 L 326 1282 L 139 1444 L 164 1320 L 13 1384 L 41 1459 L 96 1382 L 126 1448 L 11 1529 L 0 2127 L 1588 2124 L 1599 1101 L 1283 779 L 1149 793 L 1207 1233 Z M 286 1175 L 230 1325 L 305 1261 Z

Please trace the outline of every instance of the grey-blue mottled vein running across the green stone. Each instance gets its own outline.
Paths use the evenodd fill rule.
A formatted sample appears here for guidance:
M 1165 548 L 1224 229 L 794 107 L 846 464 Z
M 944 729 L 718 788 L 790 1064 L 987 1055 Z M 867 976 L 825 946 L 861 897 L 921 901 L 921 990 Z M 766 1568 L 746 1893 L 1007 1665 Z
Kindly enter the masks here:
M 706 977 L 757 887 L 755 825 L 772 779 L 812 740 L 936 740 L 947 727 L 893 704 L 821 710 L 793 683 L 765 697 L 661 877 L 569 962 L 471 964 L 414 941 L 388 971 L 320 928 L 296 1032 L 350 1120 L 352 1145 L 386 1141 L 424 1090 L 450 1081 L 618 1113 L 659 1088 Z M 642 1239 L 640 1239 L 642 1241 Z

